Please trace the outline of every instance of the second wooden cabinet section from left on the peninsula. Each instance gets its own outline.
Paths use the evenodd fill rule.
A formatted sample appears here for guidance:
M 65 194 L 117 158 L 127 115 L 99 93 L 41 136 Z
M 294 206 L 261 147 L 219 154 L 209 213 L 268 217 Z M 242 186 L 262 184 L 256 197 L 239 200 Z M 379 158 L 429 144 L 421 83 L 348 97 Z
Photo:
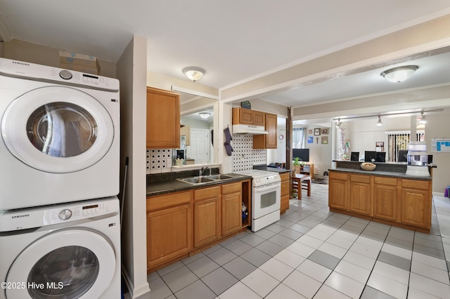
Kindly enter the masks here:
M 372 215 L 371 176 L 350 175 L 349 211 Z

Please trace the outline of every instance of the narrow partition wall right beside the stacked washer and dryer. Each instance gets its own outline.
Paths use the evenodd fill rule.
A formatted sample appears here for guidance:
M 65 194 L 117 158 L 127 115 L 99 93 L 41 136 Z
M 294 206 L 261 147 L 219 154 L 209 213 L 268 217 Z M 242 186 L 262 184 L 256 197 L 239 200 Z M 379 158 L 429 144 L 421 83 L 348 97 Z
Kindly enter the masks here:
M 122 203 L 122 270 L 131 298 L 150 291 L 146 263 L 146 61 L 147 40 L 134 36 L 117 62 L 122 119 L 121 182 L 124 159 L 129 157 Z

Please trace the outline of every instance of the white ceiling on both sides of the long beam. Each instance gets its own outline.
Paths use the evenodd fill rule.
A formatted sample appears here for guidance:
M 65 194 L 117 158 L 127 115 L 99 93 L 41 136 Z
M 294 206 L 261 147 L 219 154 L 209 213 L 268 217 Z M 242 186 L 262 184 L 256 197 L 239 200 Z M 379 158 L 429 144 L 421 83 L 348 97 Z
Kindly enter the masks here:
M 200 84 L 221 90 L 449 14 L 448 0 L 0 0 L 0 37 L 116 62 L 136 34 L 149 72 L 186 79 L 181 69 L 203 67 Z M 301 107 L 450 82 L 450 50 L 409 64 L 419 69 L 401 85 L 374 65 L 260 98 Z

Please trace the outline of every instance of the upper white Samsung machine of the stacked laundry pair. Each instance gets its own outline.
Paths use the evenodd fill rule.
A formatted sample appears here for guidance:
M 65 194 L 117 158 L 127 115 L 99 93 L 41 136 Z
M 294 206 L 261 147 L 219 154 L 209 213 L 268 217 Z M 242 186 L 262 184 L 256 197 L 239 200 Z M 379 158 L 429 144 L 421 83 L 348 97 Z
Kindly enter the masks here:
M 119 194 L 117 79 L 0 58 L 0 210 Z

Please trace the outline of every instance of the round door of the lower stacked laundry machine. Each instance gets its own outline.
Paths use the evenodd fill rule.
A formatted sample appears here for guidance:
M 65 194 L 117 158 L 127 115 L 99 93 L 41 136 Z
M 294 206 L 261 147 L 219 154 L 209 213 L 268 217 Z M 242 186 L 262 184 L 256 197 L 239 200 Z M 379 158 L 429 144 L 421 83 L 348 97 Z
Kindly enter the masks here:
M 23 285 L 6 289 L 6 298 L 98 298 L 110 286 L 115 260 L 113 246 L 98 232 L 46 234 L 14 260 L 6 281 Z

